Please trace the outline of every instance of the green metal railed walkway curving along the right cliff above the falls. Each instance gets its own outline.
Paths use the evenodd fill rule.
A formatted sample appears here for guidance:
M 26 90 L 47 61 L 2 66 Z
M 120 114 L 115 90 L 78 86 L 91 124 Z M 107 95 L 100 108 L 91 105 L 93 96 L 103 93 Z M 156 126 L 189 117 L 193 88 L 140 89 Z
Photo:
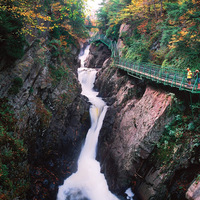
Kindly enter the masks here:
M 200 94 L 198 78 L 193 79 L 191 84 L 188 84 L 186 71 L 161 67 L 151 63 L 136 64 L 119 57 L 115 41 L 113 42 L 104 35 L 95 35 L 90 39 L 90 42 L 95 41 L 101 41 L 108 46 L 112 52 L 112 57 L 114 58 L 114 65 L 119 69 L 126 71 L 128 75 L 139 79 L 146 78 L 157 83 L 178 88 L 179 90 Z

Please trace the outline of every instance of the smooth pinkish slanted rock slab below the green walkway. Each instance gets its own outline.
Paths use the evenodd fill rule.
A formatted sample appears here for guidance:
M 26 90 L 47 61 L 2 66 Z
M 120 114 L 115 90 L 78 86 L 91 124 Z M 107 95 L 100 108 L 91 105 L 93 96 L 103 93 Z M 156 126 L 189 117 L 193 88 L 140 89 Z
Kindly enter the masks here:
M 121 95 L 118 99 L 120 98 Z M 100 136 L 100 142 L 103 141 L 99 145 L 100 160 L 102 170 L 108 176 L 108 183 L 112 181 L 112 190 L 124 188 L 127 180 L 130 180 L 140 167 L 142 160 L 147 159 L 152 152 L 167 122 L 165 112 L 170 102 L 170 97 L 164 92 L 147 87 L 140 100 L 129 100 L 129 104 L 120 112 L 117 111 L 112 134 L 106 135 L 106 132 L 111 130 L 104 126 Z M 114 162 L 110 162 L 113 159 Z M 116 174 L 113 174 L 113 168 Z

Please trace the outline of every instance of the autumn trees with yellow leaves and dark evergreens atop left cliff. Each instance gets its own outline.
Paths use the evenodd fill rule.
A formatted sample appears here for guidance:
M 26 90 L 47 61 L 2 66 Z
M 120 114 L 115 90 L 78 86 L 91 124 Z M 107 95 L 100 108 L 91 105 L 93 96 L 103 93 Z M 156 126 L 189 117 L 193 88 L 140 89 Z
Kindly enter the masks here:
M 8 66 L 21 58 L 27 37 L 34 40 L 44 32 L 57 32 L 56 39 L 62 35 L 64 46 L 88 37 L 84 18 L 82 0 L 0 0 L 0 61 Z

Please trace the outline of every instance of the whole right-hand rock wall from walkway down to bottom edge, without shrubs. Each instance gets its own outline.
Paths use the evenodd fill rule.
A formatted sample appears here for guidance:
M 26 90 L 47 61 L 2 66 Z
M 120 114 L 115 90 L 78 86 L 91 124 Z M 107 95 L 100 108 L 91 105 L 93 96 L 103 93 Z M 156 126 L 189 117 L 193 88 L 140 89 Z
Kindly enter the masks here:
M 195 149 L 194 141 L 177 144 L 170 155 L 173 159 L 165 164 L 154 151 L 165 125 L 174 119 L 168 115 L 174 106 L 173 95 L 127 76 L 110 63 L 110 59 L 104 62 L 95 82 L 109 105 L 97 158 L 110 190 L 122 194 L 131 186 L 143 200 L 185 199 L 199 174 L 199 147 Z M 177 109 L 185 110 L 180 106 Z M 192 127 L 191 123 L 188 127 Z M 188 198 L 193 198 L 188 190 L 189 194 Z M 198 194 L 196 190 L 194 194 Z

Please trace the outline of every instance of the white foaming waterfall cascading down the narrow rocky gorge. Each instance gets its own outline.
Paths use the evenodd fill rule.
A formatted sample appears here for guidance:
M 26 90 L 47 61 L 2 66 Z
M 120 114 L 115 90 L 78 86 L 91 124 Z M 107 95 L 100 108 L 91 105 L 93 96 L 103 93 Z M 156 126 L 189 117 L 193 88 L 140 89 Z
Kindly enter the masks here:
M 80 153 L 78 170 L 59 187 L 57 200 L 118 200 L 109 191 L 106 179 L 100 172 L 100 163 L 95 160 L 98 136 L 107 106 L 100 97 L 97 97 L 98 92 L 93 90 L 96 69 L 83 67 L 88 49 L 89 47 L 80 57 L 82 67 L 78 69 L 78 76 L 82 85 L 82 94 L 87 96 L 92 104 L 90 106 L 91 127 Z

